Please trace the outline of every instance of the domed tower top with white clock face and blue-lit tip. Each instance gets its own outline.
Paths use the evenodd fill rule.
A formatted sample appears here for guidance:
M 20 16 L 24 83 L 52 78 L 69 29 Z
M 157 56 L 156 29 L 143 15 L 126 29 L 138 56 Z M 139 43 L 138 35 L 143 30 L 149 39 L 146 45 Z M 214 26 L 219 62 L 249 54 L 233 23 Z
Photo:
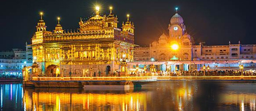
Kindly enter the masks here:
M 181 39 L 185 34 L 186 26 L 183 23 L 182 16 L 178 13 L 178 8 L 175 8 L 176 13 L 171 17 L 169 24 L 169 36 L 171 39 Z

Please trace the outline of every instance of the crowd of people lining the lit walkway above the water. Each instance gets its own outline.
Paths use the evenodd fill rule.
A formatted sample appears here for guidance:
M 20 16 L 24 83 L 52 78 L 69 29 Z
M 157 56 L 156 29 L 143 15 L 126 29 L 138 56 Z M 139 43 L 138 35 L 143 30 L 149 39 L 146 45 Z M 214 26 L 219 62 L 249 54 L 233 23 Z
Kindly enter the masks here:
M 45 75 L 41 75 L 45 76 Z M 240 70 L 211 70 L 211 71 L 158 71 L 158 72 L 129 72 L 120 73 L 114 71 L 113 73 L 93 72 L 86 75 L 80 74 L 64 74 L 64 77 L 122 77 L 122 76 L 256 76 L 255 71 L 240 71 Z M 60 75 L 52 75 L 50 77 L 60 77 Z

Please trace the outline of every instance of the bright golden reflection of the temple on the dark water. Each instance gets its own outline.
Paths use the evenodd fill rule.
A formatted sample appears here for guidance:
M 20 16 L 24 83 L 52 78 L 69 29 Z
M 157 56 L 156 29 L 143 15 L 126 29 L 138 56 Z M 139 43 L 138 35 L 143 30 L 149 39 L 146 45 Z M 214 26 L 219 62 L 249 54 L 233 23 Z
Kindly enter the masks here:
M 151 93 L 112 91 L 100 94 L 95 91 L 77 93 L 80 89 L 73 89 L 77 92 L 35 90 L 28 89 L 24 92 L 23 101 L 26 110 L 147 110 L 146 96 Z

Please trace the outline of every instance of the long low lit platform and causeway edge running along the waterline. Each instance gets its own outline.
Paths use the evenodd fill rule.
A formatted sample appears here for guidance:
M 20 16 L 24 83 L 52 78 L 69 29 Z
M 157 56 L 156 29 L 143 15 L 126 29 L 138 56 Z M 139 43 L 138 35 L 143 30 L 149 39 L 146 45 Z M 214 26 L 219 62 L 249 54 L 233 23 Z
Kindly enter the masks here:
M 23 81 L 23 84 L 32 87 L 127 88 L 141 87 L 143 84 L 156 81 L 171 80 L 256 81 L 256 76 L 32 77 L 32 80 Z

